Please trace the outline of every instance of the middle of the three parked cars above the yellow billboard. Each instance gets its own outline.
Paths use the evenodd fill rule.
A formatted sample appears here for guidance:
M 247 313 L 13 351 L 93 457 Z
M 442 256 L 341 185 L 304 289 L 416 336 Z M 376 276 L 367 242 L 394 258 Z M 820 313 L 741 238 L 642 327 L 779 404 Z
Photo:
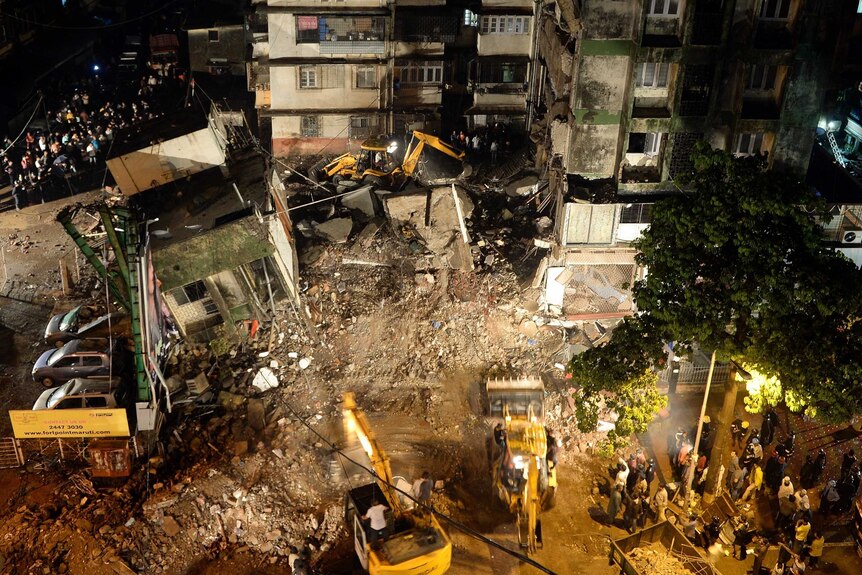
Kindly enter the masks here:
M 75 339 L 61 347 L 43 353 L 33 366 L 33 381 L 45 387 L 75 377 L 111 375 L 111 360 L 114 349 L 106 339 Z M 118 365 L 114 372 L 119 373 Z

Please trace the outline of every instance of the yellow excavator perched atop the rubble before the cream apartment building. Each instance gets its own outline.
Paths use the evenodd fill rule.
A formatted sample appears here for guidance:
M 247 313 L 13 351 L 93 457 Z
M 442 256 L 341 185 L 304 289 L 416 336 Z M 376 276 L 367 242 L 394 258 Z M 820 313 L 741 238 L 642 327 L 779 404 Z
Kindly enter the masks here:
M 436 171 L 430 165 L 432 162 L 422 157 L 427 148 L 438 150 L 461 162 L 466 157 L 464 152 L 446 144 L 437 136 L 414 131 L 401 162 L 396 159 L 397 141 L 374 137 L 362 142 L 358 153 L 339 156 L 322 168 L 314 167 L 309 175 L 315 182 L 331 181 L 337 185 L 343 180 L 354 180 L 378 187 L 398 189 L 410 177 L 420 175 L 423 169 L 428 172 L 429 179 L 438 179 L 431 175 L 432 171 Z M 461 174 L 457 177 L 467 175 L 469 175 L 468 166 L 462 166 Z

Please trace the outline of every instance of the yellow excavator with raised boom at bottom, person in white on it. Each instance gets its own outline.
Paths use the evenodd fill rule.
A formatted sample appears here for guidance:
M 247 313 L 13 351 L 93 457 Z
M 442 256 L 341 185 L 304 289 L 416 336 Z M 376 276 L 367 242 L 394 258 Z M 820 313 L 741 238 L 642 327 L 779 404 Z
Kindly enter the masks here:
M 452 542 L 433 513 L 408 508 L 393 486 L 389 458 L 380 449 L 365 414 L 356 407 L 352 393 L 344 394 L 344 424 L 355 435 L 371 459 L 377 481 L 351 489 L 345 496 L 344 517 L 353 533 L 356 555 L 370 575 L 440 575 L 452 562 Z M 409 487 L 409 484 L 405 483 Z M 384 503 L 386 531 L 383 538 L 369 543 L 362 517 L 373 502 Z

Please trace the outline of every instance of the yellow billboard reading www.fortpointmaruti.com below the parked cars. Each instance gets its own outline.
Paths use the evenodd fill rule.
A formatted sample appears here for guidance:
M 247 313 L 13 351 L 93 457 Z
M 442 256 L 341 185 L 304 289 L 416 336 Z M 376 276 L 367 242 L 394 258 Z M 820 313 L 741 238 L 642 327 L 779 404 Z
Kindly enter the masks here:
M 125 409 L 10 410 L 9 418 L 18 439 L 129 436 Z

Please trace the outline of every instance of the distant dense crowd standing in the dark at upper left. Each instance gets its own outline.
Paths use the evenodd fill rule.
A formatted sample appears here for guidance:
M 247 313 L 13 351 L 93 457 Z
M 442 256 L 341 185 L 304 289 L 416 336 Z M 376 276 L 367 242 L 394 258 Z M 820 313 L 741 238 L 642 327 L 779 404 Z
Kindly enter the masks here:
M 160 96 L 184 81 L 167 65 L 147 67 L 125 96 L 98 76 L 46 88 L 37 103 L 46 116 L 39 127 L 27 126 L 15 142 L 5 137 L 0 148 L 4 185 L 12 186 L 15 209 L 79 191 L 70 176 L 104 168 L 116 132 L 162 115 L 166 102 Z

